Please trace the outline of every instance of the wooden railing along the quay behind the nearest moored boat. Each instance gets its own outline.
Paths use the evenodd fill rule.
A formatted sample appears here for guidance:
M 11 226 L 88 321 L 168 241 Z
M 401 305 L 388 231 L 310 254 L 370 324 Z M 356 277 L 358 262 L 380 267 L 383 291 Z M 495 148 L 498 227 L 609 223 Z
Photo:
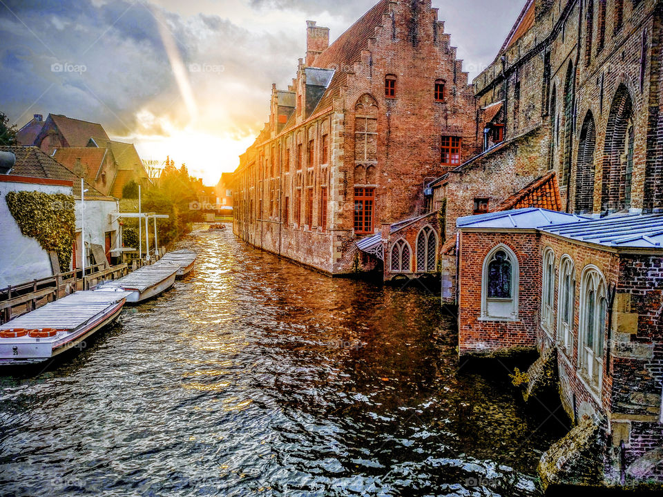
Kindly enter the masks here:
M 115 280 L 128 273 L 127 264 L 105 268 L 106 264 L 95 264 L 85 269 L 75 269 L 40 280 L 19 285 L 10 285 L 0 290 L 0 323 L 5 323 L 37 307 L 64 297 L 77 290 L 87 290 L 106 280 Z M 15 308 L 23 309 L 15 314 Z

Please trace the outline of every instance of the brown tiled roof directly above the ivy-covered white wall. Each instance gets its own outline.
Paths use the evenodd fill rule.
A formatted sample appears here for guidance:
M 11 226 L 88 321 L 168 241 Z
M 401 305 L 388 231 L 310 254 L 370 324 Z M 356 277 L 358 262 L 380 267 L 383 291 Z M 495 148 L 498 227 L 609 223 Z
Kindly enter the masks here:
M 73 182 L 73 195 L 81 196 L 81 180 L 68 168 L 57 162 L 53 157 L 42 152 L 35 146 L 0 146 L 3 152 L 12 152 L 16 156 L 16 164 L 11 170 L 12 175 L 35 178 L 64 179 Z M 86 197 L 103 197 L 88 182 Z

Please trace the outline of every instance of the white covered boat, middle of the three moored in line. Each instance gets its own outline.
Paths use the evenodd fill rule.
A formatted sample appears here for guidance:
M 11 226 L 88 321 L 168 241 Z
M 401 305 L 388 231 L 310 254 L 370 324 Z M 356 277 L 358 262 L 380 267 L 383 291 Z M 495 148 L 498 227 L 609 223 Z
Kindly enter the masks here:
M 155 262 L 151 266 L 143 266 L 119 280 L 99 284 L 95 287 L 95 292 L 126 291 L 129 292 L 126 301 L 131 304 L 139 304 L 171 288 L 175 283 L 177 271 L 180 271 L 179 264 L 168 261 Z

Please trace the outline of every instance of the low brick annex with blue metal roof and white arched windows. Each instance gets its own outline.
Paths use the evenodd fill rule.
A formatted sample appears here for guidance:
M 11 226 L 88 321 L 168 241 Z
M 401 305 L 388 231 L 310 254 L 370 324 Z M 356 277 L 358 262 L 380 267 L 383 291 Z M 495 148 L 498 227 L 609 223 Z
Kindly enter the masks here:
M 574 475 L 575 454 L 555 446 L 544 460 L 559 473 L 544 480 L 663 483 L 663 215 L 521 208 L 458 226 L 461 356 L 552 357 L 576 426 L 559 445 L 582 447 L 583 422 L 600 433 L 596 480 L 576 480 L 586 469 Z

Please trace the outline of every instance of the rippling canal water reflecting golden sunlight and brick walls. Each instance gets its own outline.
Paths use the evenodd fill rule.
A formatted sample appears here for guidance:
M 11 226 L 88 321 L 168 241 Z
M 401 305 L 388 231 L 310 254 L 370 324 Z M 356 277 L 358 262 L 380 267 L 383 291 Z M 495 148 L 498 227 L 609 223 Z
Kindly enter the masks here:
M 561 411 L 457 364 L 439 298 L 195 231 L 195 273 L 0 376 L 3 496 L 529 496 Z M 559 420 L 557 419 L 559 418 Z

